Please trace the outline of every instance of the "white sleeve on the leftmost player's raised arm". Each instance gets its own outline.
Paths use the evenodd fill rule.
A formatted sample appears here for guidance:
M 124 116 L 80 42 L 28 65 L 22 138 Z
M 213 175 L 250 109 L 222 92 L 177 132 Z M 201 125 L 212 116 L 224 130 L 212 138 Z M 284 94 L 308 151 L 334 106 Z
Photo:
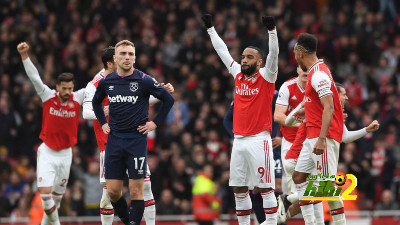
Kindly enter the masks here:
M 26 74 L 31 80 L 33 87 L 36 90 L 36 93 L 40 96 L 40 99 L 42 99 L 42 102 L 45 102 L 48 99 L 52 98 L 55 91 L 51 90 L 47 85 L 43 83 L 42 79 L 40 79 L 39 72 L 36 69 L 35 65 L 33 65 L 31 59 L 28 57 L 27 59 L 22 60 L 22 63 L 24 64 Z

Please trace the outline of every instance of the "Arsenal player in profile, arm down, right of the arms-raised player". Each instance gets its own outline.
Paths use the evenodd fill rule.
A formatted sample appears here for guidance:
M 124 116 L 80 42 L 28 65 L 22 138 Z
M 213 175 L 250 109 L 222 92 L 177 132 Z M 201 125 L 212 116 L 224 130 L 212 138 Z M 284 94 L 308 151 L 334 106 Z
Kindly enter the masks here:
M 314 224 L 313 205 L 301 201 L 308 175 L 317 169 L 323 175 L 336 174 L 339 145 L 343 135 L 343 111 L 339 94 L 328 66 L 317 58 L 317 39 L 300 34 L 294 47 L 297 63 L 308 72 L 305 91 L 305 118 L 307 138 L 300 152 L 293 181 L 299 195 L 300 208 L 306 224 Z M 335 224 L 346 224 L 342 201 L 329 201 Z

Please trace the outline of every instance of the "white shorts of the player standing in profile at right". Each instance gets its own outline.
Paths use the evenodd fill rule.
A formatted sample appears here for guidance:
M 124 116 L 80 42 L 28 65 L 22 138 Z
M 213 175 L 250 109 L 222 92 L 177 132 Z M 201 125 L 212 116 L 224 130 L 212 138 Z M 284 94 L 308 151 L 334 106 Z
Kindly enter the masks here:
M 317 141 L 318 138 L 307 138 L 304 141 L 295 170 L 302 173 L 316 174 L 317 176 L 336 176 L 339 162 L 339 142 L 331 138 L 326 138 L 326 149 L 324 153 L 322 155 L 316 155 L 312 152 Z M 330 178 L 329 180 L 334 181 L 335 178 Z

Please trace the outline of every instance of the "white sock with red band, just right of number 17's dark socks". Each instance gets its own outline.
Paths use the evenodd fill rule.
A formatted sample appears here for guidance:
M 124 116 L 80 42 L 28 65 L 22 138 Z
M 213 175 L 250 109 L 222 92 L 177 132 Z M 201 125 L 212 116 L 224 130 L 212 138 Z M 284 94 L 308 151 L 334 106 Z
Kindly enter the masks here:
M 154 201 L 153 192 L 151 191 L 150 177 L 146 176 L 143 184 L 143 197 L 144 197 L 144 213 L 143 217 L 146 220 L 146 225 L 156 224 L 156 205 Z

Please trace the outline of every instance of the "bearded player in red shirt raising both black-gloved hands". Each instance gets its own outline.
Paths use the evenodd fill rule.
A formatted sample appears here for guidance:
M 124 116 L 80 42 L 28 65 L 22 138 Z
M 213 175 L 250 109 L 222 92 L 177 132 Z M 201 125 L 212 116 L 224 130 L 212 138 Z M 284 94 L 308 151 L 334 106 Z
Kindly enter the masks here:
M 277 202 L 271 142 L 272 98 L 278 72 L 278 38 L 273 17 L 264 16 L 269 33 L 269 54 L 261 68 L 263 53 L 249 46 L 235 62 L 212 25 L 212 16 L 202 16 L 212 45 L 229 73 L 235 78 L 233 141 L 229 186 L 233 187 L 239 224 L 250 224 L 252 208 L 249 190 L 258 187 L 266 214 L 264 224 L 276 224 Z M 262 157 L 261 157 L 262 156 Z

